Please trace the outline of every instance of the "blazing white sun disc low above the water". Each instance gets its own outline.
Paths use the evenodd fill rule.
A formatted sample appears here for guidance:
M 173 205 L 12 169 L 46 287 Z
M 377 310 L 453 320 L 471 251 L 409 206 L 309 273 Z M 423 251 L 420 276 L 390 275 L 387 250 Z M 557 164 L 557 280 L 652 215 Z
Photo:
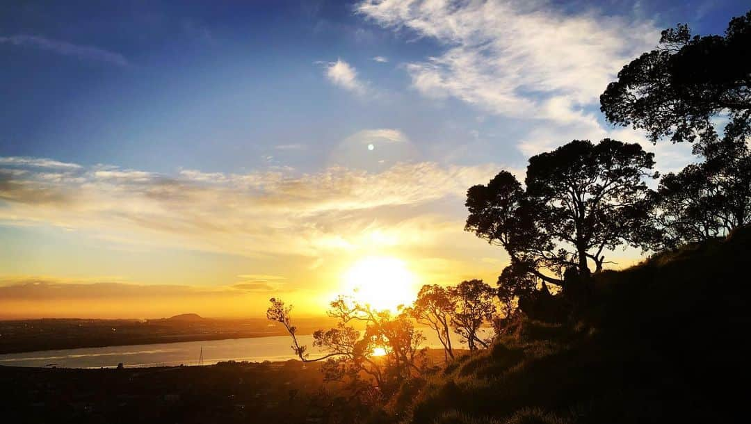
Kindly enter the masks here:
M 344 273 L 346 293 L 377 310 L 397 311 L 415 300 L 415 275 L 396 257 L 363 257 Z

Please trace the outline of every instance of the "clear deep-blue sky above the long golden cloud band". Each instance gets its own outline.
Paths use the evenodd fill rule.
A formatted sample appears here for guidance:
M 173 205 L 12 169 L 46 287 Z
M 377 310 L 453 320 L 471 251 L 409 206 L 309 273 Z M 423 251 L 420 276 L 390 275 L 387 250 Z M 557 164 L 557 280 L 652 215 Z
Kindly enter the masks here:
M 171 172 L 240 171 L 275 163 L 315 169 L 325 149 L 363 128 L 400 128 L 422 154 L 484 133 L 481 158 L 523 161 L 502 116 L 477 122 L 462 101 L 436 102 L 410 89 L 404 66 L 447 46 L 409 29 L 383 28 L 347 2 L 13 2 L 4 37 L 39 38 L 92 52 L 65 53 L 35 41 L 0 45 L 3 155 Z M 595 10 L 662 29 L 677 22 L 722 32 L 743 2 L 552 2 L 575 15 Z M 389 62 L 372 60 L 375 56 Z M 381 98 L 332 86 L 324 65 L 342 59 Z M 437 104 L 439 103 L 439 104 Z M 511 134 L 513 138 L 514 134 Z M 314 147 L 303 159 L 274 146 Z M 149 154 L 144 154 L 149 152 Z M 462 158 L 476 160 L 472 154 Z

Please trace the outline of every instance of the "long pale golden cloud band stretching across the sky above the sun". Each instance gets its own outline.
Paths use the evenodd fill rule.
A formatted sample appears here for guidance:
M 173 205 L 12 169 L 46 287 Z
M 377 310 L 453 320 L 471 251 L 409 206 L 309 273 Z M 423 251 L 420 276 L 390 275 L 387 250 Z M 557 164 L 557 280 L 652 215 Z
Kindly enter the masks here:
M 397 141 L 403 137 L 398 131 L 375 134 L 391 144 L 404 143 Z M 442 222 L 461 233 L 453 212 L 434 215 L 435 225 L 424 225 L 421 208 L 436 202 L 461 205 L 467 187 L 487 182 L 498 169 L 418 162 L 375 171 L 329 167 L 317 173 L 179 170 L 166 175 L 96 166 L 49 178 L 44 170 L 27 167 L 23 173 L 0 171 L 0 223 L 59 227 L 140 247 L 321 257 L 342 248 L 388 245 L 393 238 L 388 234 L 406 247 L 409 240 L 429 239 Z M 401 233 L 391 233 L 395 227 Z M 370 238 L 379 232 L 384 236 Z

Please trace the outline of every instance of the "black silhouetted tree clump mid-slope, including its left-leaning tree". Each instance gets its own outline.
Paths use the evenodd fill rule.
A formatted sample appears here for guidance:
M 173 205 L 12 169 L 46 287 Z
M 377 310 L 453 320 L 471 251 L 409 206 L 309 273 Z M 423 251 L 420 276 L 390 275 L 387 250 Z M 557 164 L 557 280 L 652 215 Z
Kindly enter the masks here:
M 589 274 L 591 260 L 599 271 L 605 251 L 651 236 L 644 179 L 656 178 L 653 166 L 654 155 L 635 143 L 573 140 L 529 158 L 526 190 L 506 171 L 469 188 L 465 229 L 502 245 L 515 274 L 562 285 L 543 269 Z

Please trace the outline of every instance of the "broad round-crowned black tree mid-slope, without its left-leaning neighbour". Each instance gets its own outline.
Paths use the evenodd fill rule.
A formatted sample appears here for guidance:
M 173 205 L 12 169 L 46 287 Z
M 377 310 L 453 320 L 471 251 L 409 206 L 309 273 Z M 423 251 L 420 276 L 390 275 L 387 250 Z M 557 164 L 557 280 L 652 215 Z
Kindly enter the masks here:
M 574 140 L 553 152 L 529 158 L 526 191 L 538 210 L 541 227 L 557 245 L 572 247 L 570 257 L 587 275 L 587 259 L 602 269 L 605 250 L 638 247 L 647 216 L 645 178 L 654 154 L 636 143 L 604 139 L 598 144 Z

